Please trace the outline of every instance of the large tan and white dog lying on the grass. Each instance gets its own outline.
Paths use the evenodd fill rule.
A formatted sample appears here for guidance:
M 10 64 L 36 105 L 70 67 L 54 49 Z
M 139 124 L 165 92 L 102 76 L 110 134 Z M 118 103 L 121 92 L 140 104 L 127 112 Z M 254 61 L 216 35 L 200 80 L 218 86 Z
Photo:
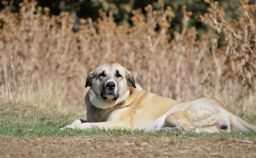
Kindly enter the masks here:
M 88 74 L 85 87 L 87 121 L 75 120 L 64 128 L 125 127 L 177 131 L 252 131 L 247 123 L 212 98 L 180 103 L 142 90 L 133 74 L 120 64 L 103 64 Z

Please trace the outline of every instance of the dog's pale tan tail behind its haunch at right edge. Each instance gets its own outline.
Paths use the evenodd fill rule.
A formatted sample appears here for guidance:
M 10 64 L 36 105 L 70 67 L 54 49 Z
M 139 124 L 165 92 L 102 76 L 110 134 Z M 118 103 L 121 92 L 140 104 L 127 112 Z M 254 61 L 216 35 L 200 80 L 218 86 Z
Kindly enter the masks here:
M 230 116 L 230 129 L 231 131 L 244 131 L 256 133 L 256 125 L 252 125 L 247 121 L 239 118 L 235 114 L 231 113 Z

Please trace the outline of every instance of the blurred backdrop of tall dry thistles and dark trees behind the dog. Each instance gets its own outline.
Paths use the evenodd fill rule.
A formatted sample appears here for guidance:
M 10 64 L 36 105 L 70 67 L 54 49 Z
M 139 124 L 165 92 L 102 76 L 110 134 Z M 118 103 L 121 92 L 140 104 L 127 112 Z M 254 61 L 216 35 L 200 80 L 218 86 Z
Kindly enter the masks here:
M 119 62 L 145 90 L 256 114 L 255 0 L 0 4 L 0 106 L 84 106 L 87 74 Z

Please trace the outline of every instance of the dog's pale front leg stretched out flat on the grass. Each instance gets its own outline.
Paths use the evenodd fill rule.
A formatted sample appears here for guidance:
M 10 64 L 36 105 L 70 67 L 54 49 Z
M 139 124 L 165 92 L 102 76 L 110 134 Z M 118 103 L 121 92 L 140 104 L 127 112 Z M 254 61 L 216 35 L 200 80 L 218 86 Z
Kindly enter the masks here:
M 75 121 L 74 121 L 75 122 Z M 78 121 L 77 121 L 78 123 Z M 114 128 L 114 127 L 125 127 L 129 128 L 129 125 L 124 124 L 122 121 L 109 121 L 109 122 L 99 122 L 99 123 L 72 123 L 71 125 L 63 127 L 61 130 L 64 128 L 71 128 L 71 129 L 88 129 L 91 127 L 98 127 L 100 129 L 109 129 L 109 128 Z

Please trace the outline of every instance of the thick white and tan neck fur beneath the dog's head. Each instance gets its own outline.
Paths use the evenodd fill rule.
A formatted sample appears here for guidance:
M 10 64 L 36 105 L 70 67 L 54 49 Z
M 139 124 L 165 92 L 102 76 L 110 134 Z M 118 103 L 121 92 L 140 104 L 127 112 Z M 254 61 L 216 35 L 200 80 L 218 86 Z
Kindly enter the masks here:
M 136 85 L 136 86 L 137 86 L 136 88 L 130 87 L 130 89 L 127 90 L 124 93 L 124 95 L 118 98 L 116 101 L 102 100 L 101 98 L 97 97 L 97 95 L 92 89 L 88 91 L 88 99 L 94 107 L 101 108 L 101 109 L 107 109 L 115 106 L 118 106 L 118 107 L 128 106 L 133 102 L 137 94 L 143 90 L 140 85 Z

